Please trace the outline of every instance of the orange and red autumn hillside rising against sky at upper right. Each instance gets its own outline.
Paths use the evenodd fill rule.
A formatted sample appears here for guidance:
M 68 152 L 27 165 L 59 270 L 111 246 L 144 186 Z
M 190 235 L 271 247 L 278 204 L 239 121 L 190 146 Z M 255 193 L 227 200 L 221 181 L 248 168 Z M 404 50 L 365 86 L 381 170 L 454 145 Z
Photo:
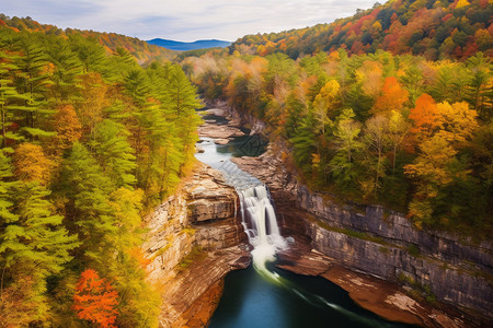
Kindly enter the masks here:
M 245 35 L 230 49 L 261 56 L 285 52 L 294 59 L 339 47 L 349 55 L 382 49 L 432 60 L 463 59 L 477 51 L 492 56 L 492 16 L 489 0 L 391 0 L 331 24 Z

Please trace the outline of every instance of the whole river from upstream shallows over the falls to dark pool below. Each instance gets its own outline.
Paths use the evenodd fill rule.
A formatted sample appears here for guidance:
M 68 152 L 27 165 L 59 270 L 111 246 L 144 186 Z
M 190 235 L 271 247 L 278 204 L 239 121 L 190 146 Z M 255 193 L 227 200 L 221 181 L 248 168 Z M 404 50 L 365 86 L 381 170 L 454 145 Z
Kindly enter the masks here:
M 243 202 L 244 195 L 250 195 L 253 201 L 249 203 L 262 207 L 253 211 L 242 208 L 243 213 L 253 213 L 246 215 L 246 223 L 243 224 L 254 245 L 253 266 L 226 277 L 223 295 L 209 327 L 410 327 L 387 321 L 362 308 L 343 289 L 323 278 L 298 276 L 275 267 L 275 251 L 289 247 L 289 243 L 280 235 L 277 236 L 272 223 L 268 223 L 272 215 L 275 220 L 275 214 L 270 214 L 271 200 L 265 199 L 268 192 L 263 195 L 263 185 L 230 161 L 234 155 L 245 155 L 245 152 L 248 155 L 259 155 L 264 151 L 265 142 L 240 137 L 226 145 L 219 145 L 210 138 L 202 138 L 197 147 L 204 152 L 197 153 L 196 157 L 221 171 L 239 190 Z M 245 191 L 252 187 L 259 190 Z M 248 219 L 259 212 L 262 213 L 262 222 L 266 222 L 263 233 L 256 231 L 255 225 L 260 223 L 254 223 L 252 227 Z

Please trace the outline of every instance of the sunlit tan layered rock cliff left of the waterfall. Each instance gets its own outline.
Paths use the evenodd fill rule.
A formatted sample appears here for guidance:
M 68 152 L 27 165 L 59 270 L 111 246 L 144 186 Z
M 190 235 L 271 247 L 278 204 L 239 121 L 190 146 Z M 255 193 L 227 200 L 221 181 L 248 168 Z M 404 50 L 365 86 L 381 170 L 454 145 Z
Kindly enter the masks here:
M 162 292 L 161 327 L 206 326 L 221 279 L 250 263 L 237 204 L 237 194 L 221 174 L 199 164 L 146 219 L 144 249 L 151 261 L 149 279 Z

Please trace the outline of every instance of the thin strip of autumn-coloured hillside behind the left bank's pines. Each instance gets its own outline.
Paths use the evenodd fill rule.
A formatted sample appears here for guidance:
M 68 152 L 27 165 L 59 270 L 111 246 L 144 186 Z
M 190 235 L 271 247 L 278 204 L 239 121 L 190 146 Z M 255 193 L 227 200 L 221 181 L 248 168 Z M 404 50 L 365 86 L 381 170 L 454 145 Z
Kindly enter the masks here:
M 118 48 L 123 48 L 130 52 L 140 65 L 150 62 L 156 59 L 171 60 L 175 57 L 173 50 L 163 49 L 162 47 L 150 45 L 145 40 L 136 37 L 129 37 L 116 33 L 81 31 L 74 28 L 66 28 L 65 31 L 49 24 L 41 24 L 31 17 L 9 17 L 0 14 L 0 25 L 7 25 L 14 31 L 41 32 L 47 35 L 60 35 L 69 37 L 71 35 L 81 35 L 85 38 L 94 38 L 104 47 L 106 52 L 115 54 Z

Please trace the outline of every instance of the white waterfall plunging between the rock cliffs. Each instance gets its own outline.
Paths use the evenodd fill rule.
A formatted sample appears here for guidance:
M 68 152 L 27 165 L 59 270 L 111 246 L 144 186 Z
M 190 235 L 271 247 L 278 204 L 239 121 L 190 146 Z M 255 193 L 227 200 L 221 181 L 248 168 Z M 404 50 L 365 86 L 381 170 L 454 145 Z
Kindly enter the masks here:
M 265 263 L 273 261 L 276 251 L 286 247 L 270 194 L 265 185 L 259 181 L 254 186 L 238 189 L 238 195 L 242 224 L 253 246 L 253 265 L 265 272 Z

